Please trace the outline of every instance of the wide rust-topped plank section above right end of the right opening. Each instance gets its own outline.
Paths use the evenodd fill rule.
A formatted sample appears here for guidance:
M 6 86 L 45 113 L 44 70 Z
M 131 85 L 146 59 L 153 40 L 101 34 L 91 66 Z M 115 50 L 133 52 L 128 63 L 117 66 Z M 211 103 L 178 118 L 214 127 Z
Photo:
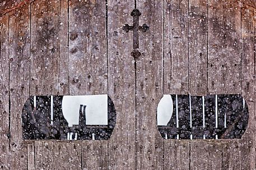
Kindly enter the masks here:
M 208 93 L 241 93 L 239 1 L 209 0 Z

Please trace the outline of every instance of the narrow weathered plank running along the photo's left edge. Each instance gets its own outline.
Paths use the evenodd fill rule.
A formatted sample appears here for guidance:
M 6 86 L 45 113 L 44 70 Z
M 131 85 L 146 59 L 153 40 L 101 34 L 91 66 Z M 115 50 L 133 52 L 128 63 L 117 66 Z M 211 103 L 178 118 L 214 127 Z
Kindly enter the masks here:
M 0 18 L 0 168 L 9 169 L 8 14 Z

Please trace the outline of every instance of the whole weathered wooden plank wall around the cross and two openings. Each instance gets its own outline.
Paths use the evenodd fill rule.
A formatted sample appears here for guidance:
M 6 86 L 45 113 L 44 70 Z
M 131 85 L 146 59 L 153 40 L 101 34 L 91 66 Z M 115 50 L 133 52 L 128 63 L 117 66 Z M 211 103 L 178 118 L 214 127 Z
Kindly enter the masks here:
M 0 169 L 256 168 L 253 1 L 16 2 L 0 6 Z M 132 32 L 122 30 L 135 5 L 150 26 L 136 67 Z M 107 93 L 117 110 L 109 140 L 22 140 L 28 96 Z M 242 94 L 243 138 L 162 139 L 157 103 L 188 93 Z

